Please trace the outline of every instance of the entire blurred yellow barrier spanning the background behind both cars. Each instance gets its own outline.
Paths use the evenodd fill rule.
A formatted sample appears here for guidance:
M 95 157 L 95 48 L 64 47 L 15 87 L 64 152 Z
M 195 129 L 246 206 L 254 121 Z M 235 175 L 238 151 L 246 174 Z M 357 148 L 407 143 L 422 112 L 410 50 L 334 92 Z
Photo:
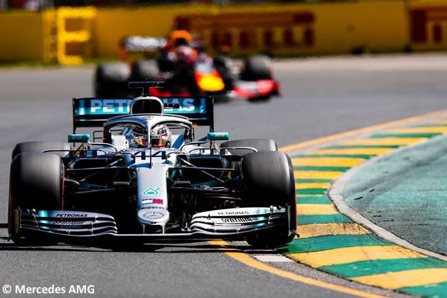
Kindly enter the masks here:
M 0 12 L 0 62 L 118 57 L 123 37 L 161 37 L 174 28 L 201 35 L 210 54 L 224 46 L 236 56 L 447 50 L 447 0 Z

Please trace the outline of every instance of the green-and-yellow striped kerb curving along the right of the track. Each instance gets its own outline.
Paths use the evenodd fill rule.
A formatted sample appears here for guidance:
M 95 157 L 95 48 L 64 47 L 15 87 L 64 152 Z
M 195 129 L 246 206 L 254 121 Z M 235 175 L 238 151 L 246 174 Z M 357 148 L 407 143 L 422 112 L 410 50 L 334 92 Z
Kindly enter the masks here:
M 341 175 L 340 172 L 355 167 L 370 156 L 381 155 L 415 142 L 424 142 L 428 138 L 446 133 L 446 125 L 428 123 L 417 127 L 390 129 L 380 134 L 373 134 L 369 138 L 350 140 L 341 145 L 332 145 L 293 156 L 296 181 L 305 183 L 311 179 L 314 182 L 336 180 Z M 343 164 L 344 159 L 357 160 L 351 164 Z M 316 203 L 317 200 L 326 200 L 326 197 L 300 196 L 318 191 L 315 187 L 305 188 L 305 184 L 303 187 L 296 185 L 297 231 L 301 238 L 281 248 L 287 250 L 285 254 L 288 257 L 372 286 L 398 289 L 418 295 L 426 295 L 424 289 L 428 294 L 433 292 L 433 288 L 437 288 L 439 292 L 435 292 L 435 297 L 444 289 L 447 278 L 431 275 L 446 274 L 446 262 L 371 235 L 371 232 L 352 223 L 330 204 L 323 206 Z

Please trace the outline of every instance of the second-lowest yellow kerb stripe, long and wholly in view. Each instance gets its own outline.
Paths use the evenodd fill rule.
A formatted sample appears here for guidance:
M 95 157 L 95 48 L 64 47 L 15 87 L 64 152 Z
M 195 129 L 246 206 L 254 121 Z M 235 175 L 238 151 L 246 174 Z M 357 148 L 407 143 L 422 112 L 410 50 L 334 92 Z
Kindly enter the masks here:
M 312 267 L 347 264 L 371 259 L 402 259 L 406 257 L 426 257 L 415 251 L 397 245 L 354 246 L 334 248 L 311 253 L 290 253 L 287 255 Z

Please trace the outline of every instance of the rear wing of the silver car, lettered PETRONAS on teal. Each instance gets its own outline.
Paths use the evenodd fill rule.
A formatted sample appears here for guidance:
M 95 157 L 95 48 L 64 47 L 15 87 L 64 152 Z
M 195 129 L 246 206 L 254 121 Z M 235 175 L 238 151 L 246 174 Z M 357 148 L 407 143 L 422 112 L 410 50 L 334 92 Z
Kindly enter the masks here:
M 208 97 L 160 97 L 164 114 L 186 116 L 214 131 L 214 101 Z M 130 114 L 131 98 L 73 98 L 73 134 L 78 127 L 102 127 L 109 118 Z

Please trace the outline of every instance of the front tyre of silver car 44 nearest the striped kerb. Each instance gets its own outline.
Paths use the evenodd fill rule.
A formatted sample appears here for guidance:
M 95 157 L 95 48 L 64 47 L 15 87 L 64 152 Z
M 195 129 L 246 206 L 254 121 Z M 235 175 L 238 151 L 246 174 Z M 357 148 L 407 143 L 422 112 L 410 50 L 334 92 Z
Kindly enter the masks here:
M 259 233 L 246 237 L 256 247 L 274 247 L 287 244 L 296 229 L 296 194 L 292 162 L 283 152 L 264 151 L 248 153 L 241 160 L 241 175 L 245 206 L 281 206 L 287 208 L 287 226 L 276 233 Z

